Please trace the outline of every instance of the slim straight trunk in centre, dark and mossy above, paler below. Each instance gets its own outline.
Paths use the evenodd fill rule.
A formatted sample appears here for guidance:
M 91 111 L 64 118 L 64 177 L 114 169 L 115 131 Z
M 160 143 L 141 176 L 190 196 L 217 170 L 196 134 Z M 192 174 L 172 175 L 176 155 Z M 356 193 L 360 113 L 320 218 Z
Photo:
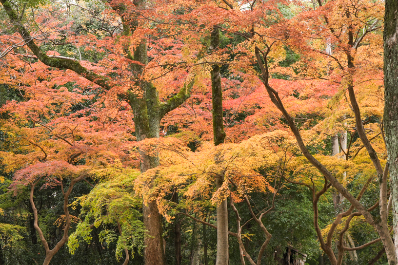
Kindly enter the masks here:
M 219 30 L 215 27 L 211 33 L 210 49 L 215 50 L 219 46 Z M 224 142 L 224 121 L 222 110 L 222 88 L 220 67 L 217 64 L 212 66 L 212 105 L 213 105 L 213 140 L 214 145 Z M 219 189 L 223 183 L 221 177 L 216 178 L 216 186 Z M 216 265 L 228 265 L 228 206 L 225 199 L 217 206 L 217 259 Z

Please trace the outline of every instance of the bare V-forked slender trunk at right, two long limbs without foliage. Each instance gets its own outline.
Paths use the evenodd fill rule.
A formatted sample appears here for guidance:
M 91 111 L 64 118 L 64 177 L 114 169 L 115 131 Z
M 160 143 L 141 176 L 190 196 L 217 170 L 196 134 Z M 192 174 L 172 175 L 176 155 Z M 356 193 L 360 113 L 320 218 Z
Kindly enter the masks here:
M 319 1 L 319 5 L 321 6 L 321 2 Z M 350 13 L 347 13 L 347 16 L 349 18 Z M 328 20 L 326 19 L 326 23 L 329 23 Z M 372 24 L 372 26 L 370 26 L 370 30 L 372 30 L 375 27 L 375 24 Z M 334 32 L 333 29 L 330 29 L 332 34 Z M 367 33 L 368 31 L 365 31 L 365 33 Z M 365 33 L 363 35 L 365 35 Z M 381 240 L 384 244 L 384 247 L 386 249 L 386 253 L 387 253 L 387 258 L 390 264 L 395 264 L 396 263 L 396 256 L 394 253 L 394 247 L 393 247 L 393 241 L 390 237 L 390 233 L 388 231 L 388 226 L 387 226 L 387 215 L 388 215 L 388 208 L 387 208 L 387 173 L 386 173 L 386 169 L 383 170 L 381 168 L 381 164 L 379 161 L 379 158 L 376 154 L 376 151 L 373 149 L 372 145 L 370 144 L 369 139 L 366 136 L 366 132 L 365 129 L 363 127 L 363 123 L 362 120 L 360 118 L 360 111 L 359 111 L 359 106 L 358 106 L 358 102 L 356 100 L 355 97 L 355 92 L 354 92 L 354 85 L 353 85 L 353 77 L 352 77 L 352 73 L 350 73 L 350 71 L 353 71 L 354 68 L 354 57 L 351 54 L 352 50 L 357 50 L 358 49 L 358 45 L 360 43 L 360 41 L 363 39 L 363 37 L 357 36 L 357 38 L 355 38 L 356 41 L 354 41 L 354 32 L 353 32 L 353 28 L 351 25 L 348 25 L 348 31 L 347 31 L 347 38 L 348 38 L 348 47 L 349 48 L 345 48 L 345 55 L 347 57 L 347 63 L 348 63 L 348 76 L 347 76 L 347 85 L 348 85 L 348 92 L 349 92 L 349 97 L 350 97 L 350 102 L 353 108 L 353 112 L 355 114 L 355 119 L 356 119 L 356 126 L 357 126 L 357 130 L 358 130 L 358 134 L 359 137 L 361 139 L 361 141 L 363 142 L 363 145 L 365 146 L 365 148 L 367 149 L 371 160 L 374 163 L 374 166 L 377 170 L 377 175 L 378 175 L 378 180 L 379 180 L 379 187 L 380 187 L 380 216 L 381 216 L 381 222 L 378 222 L 374 219 L 374 217 L 368 212 L 368 210 L 366 208 L 363 207 L 363 205 L 361 205 L 358 200 L 351 194 L 349 193 L 335 178 L 335 176 L 333 176 L 333 174 L 327 170 L 324 165 L 322 165 L 321 163 L 319 163 L 319 161 L 308 151 L 308 149 L 306 148 L 304 141 L 301 138 L 301 134 L 297 128 L 297 126 L 295 125 L 294 120 L 292 119 L 292 117 L 288 114 L 288 112 L 286 111 L 286 109 L 283 106 L 283 103 L 278 95 L 278 92 L 273 89 L 269 83 L 268 80 L 270 78 L 269 75 L 269 69 L 268 69 L 268 61 L 267 61 L 267 56 L 270 52 L 271 46 L 273 45 L 273 43 L 275 42 L 271 42 L 271 44 L 266 44 L 265 49 L 261 49 L 258 46 L 256 47 L 256 56 L 257 56 L 257 61 L 259 63 L 259 67 L 261 69 L 261 73 L 262 73 L 262 79 L 263 79 L 263 83 L 264 86 L 267 89 L 268 95 L 270 96 L 271 100 L 273 101 L 274 105 L 278 107 L 278 109 L 281 111 L 281 113 L 283 114 L 283 116 L 285 117 L 285 119 L 287 120 L 290 129 L 292 130 L 292 132 L 294 133 L 300 150 L 302 151 L 303 155 L 319 170 L 322 172 L 322 174 L 325 176 L 325 178 L 330 181 L 331 185 L 333 185 L 344 197 L 347 198 L 348 201 L 350 201 L 350 203 L 352 203 L 353 207 L 358 209 L 358 212 L 363 215 L 365 217 L 365 219 L 371 224 L 373 225 L 376 230 L 378 231 Z M 363 36 L 362 35 L 362 36 Z M 283 36 L 279 37 L 279 40 L 282 40 Z M 338 62 L 339 63 L 339 62 Z M 341 70 L 344 71 L 344 69 L 341 66 L 340 63 L 340 68 Z M 351 212 L 350 212 L 351 213 Z M 350 214 L 349 213 L 349 214 Z M 336 262 L 333 261 L 332 262 Z

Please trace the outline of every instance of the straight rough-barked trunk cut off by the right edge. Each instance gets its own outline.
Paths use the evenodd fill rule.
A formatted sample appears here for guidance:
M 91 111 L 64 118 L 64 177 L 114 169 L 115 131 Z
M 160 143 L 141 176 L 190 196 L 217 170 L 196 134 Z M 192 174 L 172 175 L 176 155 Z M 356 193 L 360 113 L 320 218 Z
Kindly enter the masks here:
M 390 171 L 395 264 L 398 257 L 398 1 L 385 0 L 384 128 Z M 387 249 L 386 249 L 387 250 Z M 387 253 L 387 251 L 386 251 Z M 389 264 L 392 264 L 389 260 Z

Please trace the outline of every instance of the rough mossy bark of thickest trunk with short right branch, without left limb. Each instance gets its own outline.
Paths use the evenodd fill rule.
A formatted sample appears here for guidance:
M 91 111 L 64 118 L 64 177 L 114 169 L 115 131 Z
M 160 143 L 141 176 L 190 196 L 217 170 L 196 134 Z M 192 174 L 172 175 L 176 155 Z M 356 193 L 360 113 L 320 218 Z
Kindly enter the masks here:
M 137 23 L 134 20 L 130 24 L 123 23 L 124 35 L 133 33 L 136 27 Z M 144 66 L 148 63 L 146 43 L 142 42 L 137 45 L 133 55 L 128 52 L 127 57 L 142 63 L 142 65 L 131 65 L 134 73 L 142 73 Z M 171 97 L 167 102 L 160 102 L 159 93 L 152 83 L 138 81 L 137 85 L 142 90 L 143 95 L 129 94 L 127 97 L 134 114 L 137 141 L 146 138 L 158 138 L 160 120 L 165 114 L 177 108 L 190 96 L 193 81 L 184 84 L 179 93 Z M 150 156 L 143 151 L 139 151 L 139 154 L 141 172 L 159 166 L 158 156 Z M 153 183 L 149 185 L 151 186 Z M 145 264 L 163 265 L 165 264 L 165 253 L 162 238 L 162 222 L 156 201 L 144 203 L 143 221 L 145 228 L 148 230 L 145 237 Z

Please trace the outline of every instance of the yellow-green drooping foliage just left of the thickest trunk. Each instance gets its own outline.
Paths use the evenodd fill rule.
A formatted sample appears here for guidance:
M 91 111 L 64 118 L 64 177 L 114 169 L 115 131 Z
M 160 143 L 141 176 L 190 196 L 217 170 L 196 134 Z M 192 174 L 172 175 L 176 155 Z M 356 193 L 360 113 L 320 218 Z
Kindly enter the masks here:
M 89 243 L 91 231 L 100 228 L 100 241 L 107 245 L 117 241 L 116 256 L 121 258 L 124 248 L 141 249 L 145 229 L 141 221 L 139 208 L 142 200 L 134 194 L 134 180 L 139 171 L 122 168 L 120 164 L 111 168 L 90 172 L 100 183 L 87 195 L 79 198 L 82 207 L 80 218 L 83 220 L 70 236 L 68 246 L 73 254 L 80 241 Z M 121 235 L 117 234 L 118 223 Z M 91 227 L 90 227 L 91 226 Z M 112 227 L 111 229 L 109 229 Z M 116 228 L 116 229 L 114 229 Z

